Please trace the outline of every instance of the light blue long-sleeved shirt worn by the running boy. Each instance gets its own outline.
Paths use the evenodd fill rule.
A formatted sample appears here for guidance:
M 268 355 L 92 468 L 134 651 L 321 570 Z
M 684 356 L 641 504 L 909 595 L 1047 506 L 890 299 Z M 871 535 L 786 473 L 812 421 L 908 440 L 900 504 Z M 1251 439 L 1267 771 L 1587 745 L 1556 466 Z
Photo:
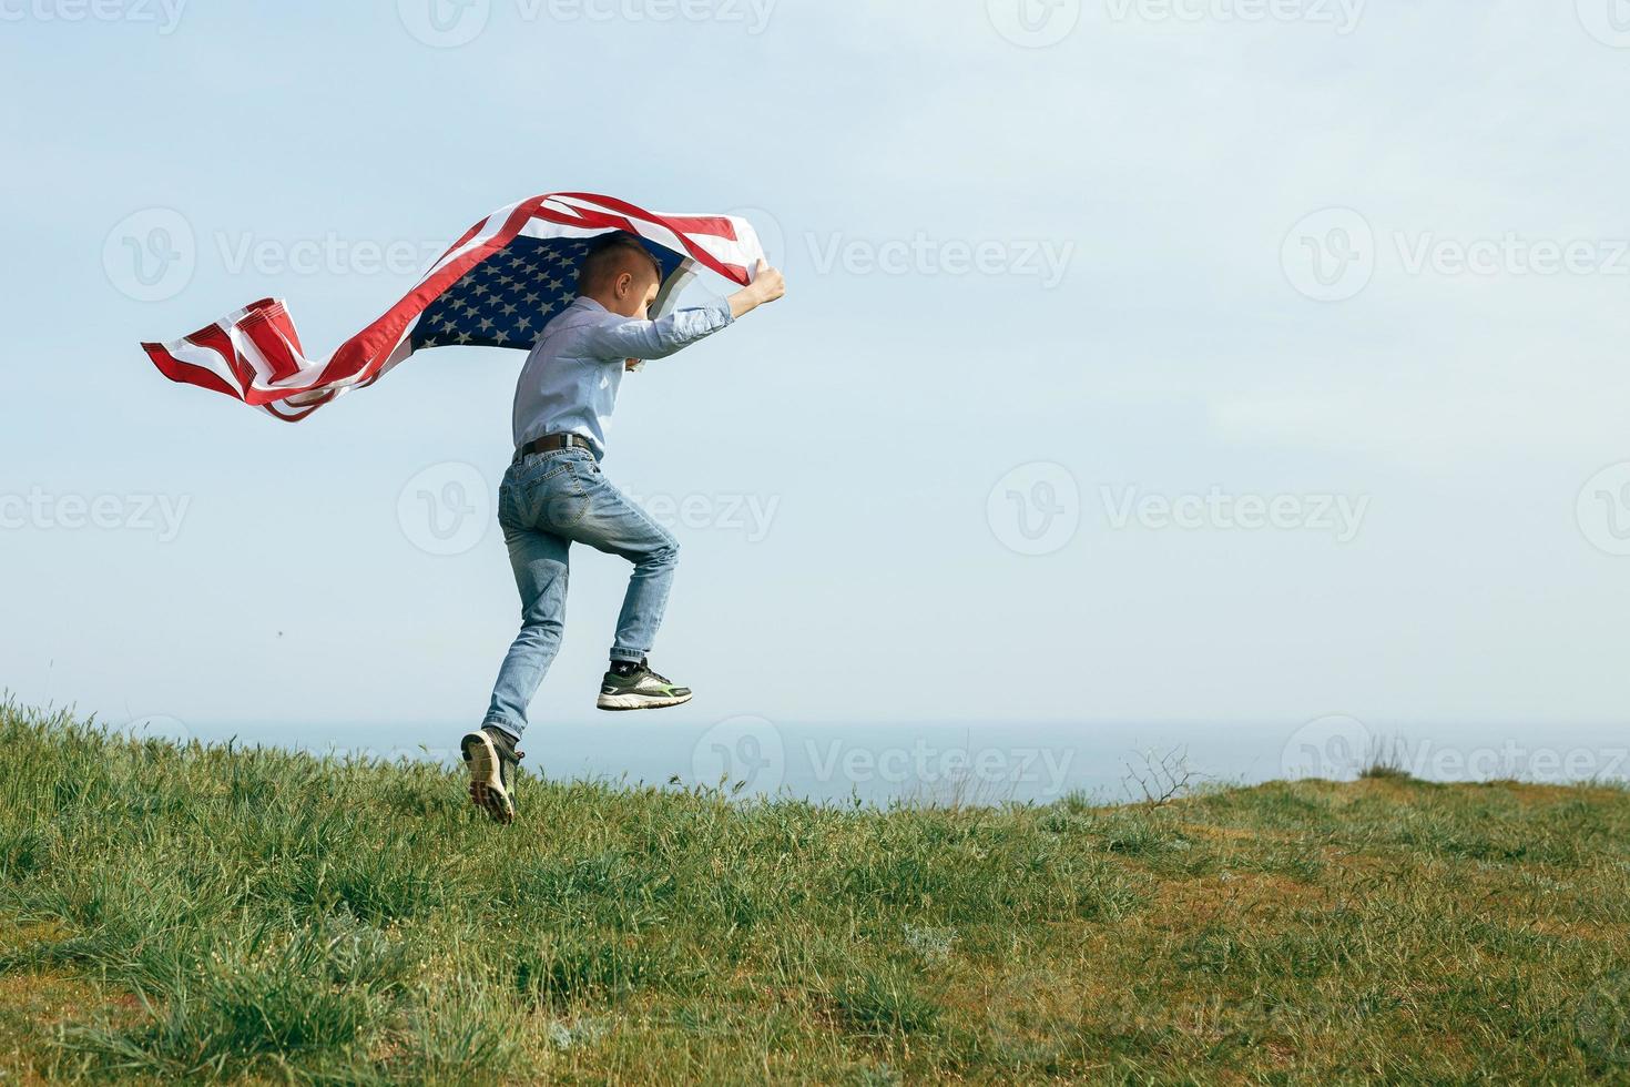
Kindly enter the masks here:
M 730 303 L 724 300 L 639 321 L 577 298 L 543 326 L 520 370 L 515 447 L 546 433 L 580 433 L 593 445 L 595 458 L 603 458 L 623 360 L 667 359 L 730 321 Z

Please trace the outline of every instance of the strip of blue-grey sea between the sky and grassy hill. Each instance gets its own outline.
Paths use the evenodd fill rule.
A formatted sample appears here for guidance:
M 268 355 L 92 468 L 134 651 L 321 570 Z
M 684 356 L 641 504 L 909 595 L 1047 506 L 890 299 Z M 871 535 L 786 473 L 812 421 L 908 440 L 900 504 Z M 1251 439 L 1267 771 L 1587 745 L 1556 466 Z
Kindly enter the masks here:
M 334 756 L 458 761 L 463 727 L 181 725 L 142 735 L 267 745 Z M 720 786 L 745 797 L 822 803 L 1051 803 L 1139 800 L 1175 787 L 1356 777 L 1377 758 L 1428 781 L 1630 779 L 1630 727 L 1394 725 L 1322 717 L 1273 725 L 880 724 L 732 717 L 709 725 L 601 715 L 533 727 L 525 768 L 551 779 Z

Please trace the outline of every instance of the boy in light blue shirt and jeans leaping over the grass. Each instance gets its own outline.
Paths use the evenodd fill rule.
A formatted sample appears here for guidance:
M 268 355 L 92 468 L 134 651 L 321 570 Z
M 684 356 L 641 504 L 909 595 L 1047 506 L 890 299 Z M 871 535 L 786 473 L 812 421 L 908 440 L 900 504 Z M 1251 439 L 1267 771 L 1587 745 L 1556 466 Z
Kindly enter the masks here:
M 781 298 L 786 285 L 761 261 L 751 285 L 729 298 L 647 321 L 660 285 L 662 266 L 637 238 L 598 238 L 579 271 L 577 300 L 544 326 L 520 372 L 515 461 L 499 489 L 499 523 L 520 590 L 522 627 L 499 670 L 486 720 L 460 745 L 469 799 L 499 823 L 515 818 L 512 789 L 522 758 L 515 745 L 526 728 L 526 706 L 561 647 L 574 541 L 634 564 L 597 706 L 660 709 L 691 699 L 689 688 L 657 675 L 647 660 L 680 544 L 600 473 L 605 432 L 624 370 L 712 336 Z

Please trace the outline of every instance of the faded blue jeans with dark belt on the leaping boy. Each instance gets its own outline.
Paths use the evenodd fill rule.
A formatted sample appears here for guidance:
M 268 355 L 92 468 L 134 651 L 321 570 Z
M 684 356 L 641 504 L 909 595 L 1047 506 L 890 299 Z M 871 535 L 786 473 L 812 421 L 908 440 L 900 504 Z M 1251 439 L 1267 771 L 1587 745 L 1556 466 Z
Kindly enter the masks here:
M 487 725 L 520 738 L 526 706 L 566 629 L 567 551 L 585 543 L 634 564 L 616 621 L 613 660 L 644 660 L 662 626 L 680 541 L 600 473 L 588 450 L 533 453 L 504 474 L 499 525 L 520 590 L 520 634 L 492 688 Z

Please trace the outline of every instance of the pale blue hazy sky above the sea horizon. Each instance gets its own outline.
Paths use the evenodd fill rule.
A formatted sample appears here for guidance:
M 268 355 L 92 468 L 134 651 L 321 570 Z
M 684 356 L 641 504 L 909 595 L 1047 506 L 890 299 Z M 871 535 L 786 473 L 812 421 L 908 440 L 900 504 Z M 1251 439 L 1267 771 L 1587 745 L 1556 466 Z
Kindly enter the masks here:
M 280 297 L 326 352 L 491 210 L 588 191 L 745 215 L 789 284 L 623 385 L 678 727 L 1617 725 L 1623 15 L 0 0 L 0 686 L 478 722 L 523 355 L 287 425 L 139 342 Z M 575 552 L 535 722 L 598 724 L 626 574 Z

